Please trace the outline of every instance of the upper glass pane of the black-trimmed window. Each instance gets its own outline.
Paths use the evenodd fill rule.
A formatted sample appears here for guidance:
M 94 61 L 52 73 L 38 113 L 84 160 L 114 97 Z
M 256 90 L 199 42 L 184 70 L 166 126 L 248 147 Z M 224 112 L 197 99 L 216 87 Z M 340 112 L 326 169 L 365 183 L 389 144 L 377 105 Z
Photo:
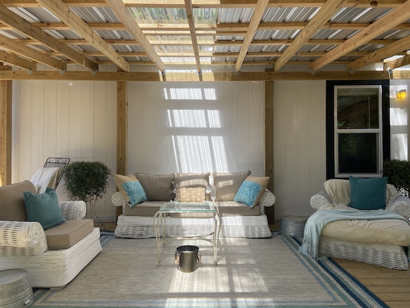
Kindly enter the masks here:
M 338 88 L 337 128 L 379 128 L 378 88 Z

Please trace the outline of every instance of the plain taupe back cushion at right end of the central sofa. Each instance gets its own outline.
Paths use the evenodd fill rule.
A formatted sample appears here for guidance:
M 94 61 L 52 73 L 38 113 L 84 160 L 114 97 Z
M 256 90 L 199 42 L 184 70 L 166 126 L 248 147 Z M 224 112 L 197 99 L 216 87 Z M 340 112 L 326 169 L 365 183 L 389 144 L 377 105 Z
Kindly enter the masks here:
M 236 173 L 213 172 L 213 186 L 215 187 L 216 201 L 232 201 L 241 187 L 250 170 Z

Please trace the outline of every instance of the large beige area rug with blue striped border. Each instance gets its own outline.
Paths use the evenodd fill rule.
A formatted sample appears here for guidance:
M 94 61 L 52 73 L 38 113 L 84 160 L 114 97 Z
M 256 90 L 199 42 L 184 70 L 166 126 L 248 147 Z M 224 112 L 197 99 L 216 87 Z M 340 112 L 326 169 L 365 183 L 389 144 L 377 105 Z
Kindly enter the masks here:
M 32 307 L 387 307 L 331 259 L 298 252 L 300 239 L 221 239 L 218 263 L 206 241 L 170 241 L 158 265 L 155 239 L 101 233 L 101 253 L 64 289 L 36 289 Z M 200 247 L 194 272 L 175 250 Z

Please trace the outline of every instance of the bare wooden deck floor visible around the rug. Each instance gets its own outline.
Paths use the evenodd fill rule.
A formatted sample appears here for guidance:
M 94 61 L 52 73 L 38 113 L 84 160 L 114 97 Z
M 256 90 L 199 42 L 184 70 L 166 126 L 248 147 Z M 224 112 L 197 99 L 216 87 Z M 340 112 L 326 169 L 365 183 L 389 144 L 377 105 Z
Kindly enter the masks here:
M 106 230 L 114 230 L 115 223 L 106 222 Z M 278 230 L 279 224 L 271 225 Z M 391 308 L 410 307 L 410 270 L 390 270 L 357 261 L 335 259 L 341 267 L 376 294 Z

